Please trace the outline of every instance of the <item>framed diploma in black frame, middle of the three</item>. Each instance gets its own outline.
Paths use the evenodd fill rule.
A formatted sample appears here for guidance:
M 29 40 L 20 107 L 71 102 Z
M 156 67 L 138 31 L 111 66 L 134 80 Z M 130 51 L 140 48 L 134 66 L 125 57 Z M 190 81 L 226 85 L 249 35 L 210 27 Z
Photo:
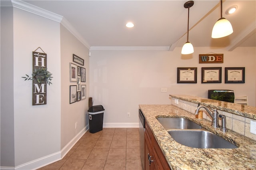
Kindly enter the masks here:
M 202 67 L 202 83 L 221 83 L 221 67 Z

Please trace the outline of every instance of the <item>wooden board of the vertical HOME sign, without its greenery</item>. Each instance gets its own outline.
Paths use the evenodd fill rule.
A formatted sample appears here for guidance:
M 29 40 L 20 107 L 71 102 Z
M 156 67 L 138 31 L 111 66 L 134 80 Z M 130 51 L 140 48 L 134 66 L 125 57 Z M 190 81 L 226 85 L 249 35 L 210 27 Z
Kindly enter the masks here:
M 38 48 L 40 48 L 40 47 L 38 47 Z M 36 52 L 36 50 L 32 52 L 33 74 L 35 74 L 34 76 L 36 78 L 36 79 L 33 79 L 33 81 L 32 81 L 32 83 L 33 83 L 32 105 L 46 105 L 46 96 L 47 96 L 46 95 L 47 94 L 46 93 L 46 90 L 47 90 L 46 85 L 47 85 L 47 83 L 46 83 L 46 80 L 41 80 L 42 75 L 40 74 L 40 71 L 38 71 L 38 70 L 47 69 L 47 54 Z

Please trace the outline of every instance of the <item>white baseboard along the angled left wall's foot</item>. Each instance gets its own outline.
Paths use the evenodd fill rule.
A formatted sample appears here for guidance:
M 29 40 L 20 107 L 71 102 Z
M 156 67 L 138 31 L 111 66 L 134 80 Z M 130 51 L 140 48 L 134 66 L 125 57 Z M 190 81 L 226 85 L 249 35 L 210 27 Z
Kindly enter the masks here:
M 68 151 L 76 144 L 76 142 L 84 135 L 84 133 L 89 129 L 89 125 L 84 127 L 61 151 L 44 156 L 42 158 L 27 162 L 25 164 L 16 167 L 1 167 L 0 170 L 36 170 L 48 164 L 52 164 L 58 160 L 61 160 Z

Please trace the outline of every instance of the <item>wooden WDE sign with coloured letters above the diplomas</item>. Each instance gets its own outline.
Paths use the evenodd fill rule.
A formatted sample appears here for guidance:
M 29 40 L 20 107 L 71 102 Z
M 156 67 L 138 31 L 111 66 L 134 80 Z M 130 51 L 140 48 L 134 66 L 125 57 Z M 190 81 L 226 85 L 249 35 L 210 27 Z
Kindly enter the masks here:
M 199 63 L 223 63 L 223 54 L 199 54 Z

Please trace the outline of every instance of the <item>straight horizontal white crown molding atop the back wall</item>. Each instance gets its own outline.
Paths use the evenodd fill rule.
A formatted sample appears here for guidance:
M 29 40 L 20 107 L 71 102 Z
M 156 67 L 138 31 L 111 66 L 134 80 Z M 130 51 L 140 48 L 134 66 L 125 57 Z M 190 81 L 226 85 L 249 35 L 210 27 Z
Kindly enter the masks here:
M 91 46 L 90 50 L 169 50 L 169 46 Z

